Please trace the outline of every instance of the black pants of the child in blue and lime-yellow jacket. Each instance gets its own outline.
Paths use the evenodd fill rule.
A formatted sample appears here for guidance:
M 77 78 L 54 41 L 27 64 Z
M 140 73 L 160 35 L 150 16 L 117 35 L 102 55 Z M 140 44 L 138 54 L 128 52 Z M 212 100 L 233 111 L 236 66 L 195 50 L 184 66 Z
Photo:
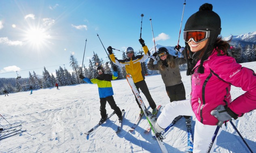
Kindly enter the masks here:
M 116 112 L 117 116 L 122 116 L 122 112 L 120 110 L 120 108 L 118 108 L 118 106 L 116 105 L 116 102 L 114 101 L 114 97 L 113 96 L 108 96 L 106 98 L 99 98 L 100 99 L 100 115 L 102 116 L 102 118 L 106 118 L 107 116 L 107 111 L 106 111 L 106 103 L 108 101 L 108 104 L 110 105 L 111 109 L 114 110 Z

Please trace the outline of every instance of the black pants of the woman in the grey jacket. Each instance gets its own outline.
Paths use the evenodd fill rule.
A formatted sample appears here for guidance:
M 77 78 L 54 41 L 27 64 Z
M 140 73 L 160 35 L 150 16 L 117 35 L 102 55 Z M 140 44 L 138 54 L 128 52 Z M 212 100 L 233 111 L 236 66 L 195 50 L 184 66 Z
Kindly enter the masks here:
M 170 98 L 170 102 L 186 99 L 186 91 L 183 83 L 165 87 L 165 90 Z M 190 116 L 184 116 L 184 118 L 190 118 Z

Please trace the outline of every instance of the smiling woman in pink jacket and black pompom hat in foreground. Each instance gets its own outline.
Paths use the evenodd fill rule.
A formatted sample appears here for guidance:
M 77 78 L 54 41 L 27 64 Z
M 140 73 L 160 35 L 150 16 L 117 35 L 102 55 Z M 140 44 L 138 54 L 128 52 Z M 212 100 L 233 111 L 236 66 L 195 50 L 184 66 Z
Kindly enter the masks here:
M 190 103 L 173 101 L 157 120 L 154 116 L 150 119 L 155 131 L 161 132 L 178 115 L 195 116 L 193 153 L 207 151 L 218 121 L 225 123 L 256 109 L 256 74 L 227 56 L 230 40 L 218 37 L 220 31 L 220 17 L 212 11 L 212 4 L 203 4 L 188 18 L 184 41 L 187 75 L 191 75 Z M 246 92 L 232 101 L 231 85 Z M 215 145 L 216 141 L 211 152 Z

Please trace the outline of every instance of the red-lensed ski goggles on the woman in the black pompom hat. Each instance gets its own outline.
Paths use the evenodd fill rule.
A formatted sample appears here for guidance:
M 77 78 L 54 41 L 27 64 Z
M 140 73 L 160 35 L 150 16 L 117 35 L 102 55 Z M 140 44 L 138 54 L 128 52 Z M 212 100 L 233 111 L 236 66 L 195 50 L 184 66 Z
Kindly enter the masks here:
M 195 43 L 199 43 L 209 37 L 210 31 L 189 30 L 183 32 L 183 38 L 186 43 L 188 43 L 190 40 L 194 41 Z

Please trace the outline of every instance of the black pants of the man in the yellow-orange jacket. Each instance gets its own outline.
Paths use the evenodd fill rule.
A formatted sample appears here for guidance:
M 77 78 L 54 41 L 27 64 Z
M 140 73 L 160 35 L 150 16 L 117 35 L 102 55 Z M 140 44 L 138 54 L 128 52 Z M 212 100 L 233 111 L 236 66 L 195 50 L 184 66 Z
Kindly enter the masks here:
M 140 93 L 140 90 L 141 90 L 142 93 L 145 95 L 146 99 L 148 100 L 148 103 L 149 103 L 150 107 L 151 107 L 152 109 L 156 108 L 157 105 L 156 105 L 156 103 L 154 102 L 154 100 L 152 99 L 152 97 L 151 97 L 151 95 L 150 95 L 150 93 L 149 93 L 149 90 L 148 90 L 148 86 L 147 86 L 147 84 L 146 84 L 146 81 L 145 81 L 145 80 L 142 80 L 142 81 L 139 81 L 139 82 L 134 83 L 134 84 L 135 84 L 136 88 L 138 89 L 139 93 Z M 140 90 L 139 90 L 139 89 L 140 89 Z M 135 96 L 135 95 L 134 95 L 134 96 Z M 135 99 L 136 99 L 136 102 L 137 102 L 138 105 L 139 105 L 139 108 L 141 108 L 140 103 L 139 103 L 138 99 L 136 98 L 136 96 L 135 96 Z

